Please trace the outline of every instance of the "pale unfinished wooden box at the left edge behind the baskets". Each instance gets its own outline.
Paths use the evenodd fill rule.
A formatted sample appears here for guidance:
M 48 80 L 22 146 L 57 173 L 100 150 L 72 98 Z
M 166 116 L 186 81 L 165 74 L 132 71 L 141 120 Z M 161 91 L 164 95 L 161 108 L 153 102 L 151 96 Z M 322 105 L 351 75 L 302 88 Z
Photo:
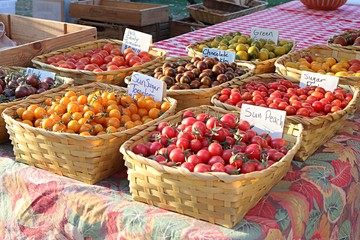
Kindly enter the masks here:
M 0 50 L 1 66 L 32 66 L 38 55 L 96 40 L 96 28 L 39 18 L 0 14 L 6 35 L 17 46 Z

